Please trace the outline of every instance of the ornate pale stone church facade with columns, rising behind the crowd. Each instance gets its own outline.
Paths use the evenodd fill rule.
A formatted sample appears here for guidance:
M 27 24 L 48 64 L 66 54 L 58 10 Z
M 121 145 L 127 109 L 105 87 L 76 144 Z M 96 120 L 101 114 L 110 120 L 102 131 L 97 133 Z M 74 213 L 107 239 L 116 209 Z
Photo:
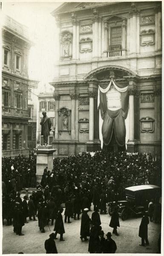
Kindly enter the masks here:
M 58 156 L 100 150 L 101 93 L 107 111 L 117 111 L 119 100 L 111 95 L 123 92 L 118 88 L 128 95 L 127 151 L 160 154 L 161 2 L 63 3 L 52 15 L 60 29 L 60 60 L 50 83 Z M 106 91 L 112 82 L 114 94 Z M 116 119 L 110 116 L 111 123 Z M 108 142 L 118 150 L 117 138 L 127 129 L 120 126 L 116 136 L 113 127 Z

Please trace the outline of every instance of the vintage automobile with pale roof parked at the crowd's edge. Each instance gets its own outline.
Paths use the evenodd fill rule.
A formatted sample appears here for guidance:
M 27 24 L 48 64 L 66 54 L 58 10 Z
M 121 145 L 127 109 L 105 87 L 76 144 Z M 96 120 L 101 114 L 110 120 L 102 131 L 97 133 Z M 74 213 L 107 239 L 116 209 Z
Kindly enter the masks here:
M 109 202 L 108 212 L 112 215 L 115 207 L 122 220 L 126 220 L 129 216 L 141 215 L 141 212 L 148 210 L 151 199 L 159 201 L 161 197 L 161 188 L 155 185 L 139 185 L 131 186 L 125 189 L 126 200 L 118 202 Z

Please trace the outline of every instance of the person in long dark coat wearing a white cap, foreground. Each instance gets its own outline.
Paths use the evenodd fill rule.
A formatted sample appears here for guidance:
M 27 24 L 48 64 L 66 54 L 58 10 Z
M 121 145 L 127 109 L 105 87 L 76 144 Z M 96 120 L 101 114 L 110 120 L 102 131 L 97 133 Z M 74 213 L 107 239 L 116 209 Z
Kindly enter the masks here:
M 90 221 L 91 219 L 89 218 L 89 215 L 87 212 L 89 211 L 88 208 L 83 209 L 83 213 L 81 216 L 81 230 L 80 230 L 80 235 L 81 235 L 81 241 L 83 239 L 87 241 L 87 236 L 89 236 L 89 230 L 90 230 Z

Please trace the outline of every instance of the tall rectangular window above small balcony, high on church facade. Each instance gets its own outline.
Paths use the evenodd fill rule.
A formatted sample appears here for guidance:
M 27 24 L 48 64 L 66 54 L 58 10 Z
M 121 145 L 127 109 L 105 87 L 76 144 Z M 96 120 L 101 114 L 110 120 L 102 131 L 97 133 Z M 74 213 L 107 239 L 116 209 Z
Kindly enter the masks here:
M 111 33 L 110 33 L 111 50 L 121 49 L 121 43 L 122 43 L 122 28 L 121 27 L 111 28 Z

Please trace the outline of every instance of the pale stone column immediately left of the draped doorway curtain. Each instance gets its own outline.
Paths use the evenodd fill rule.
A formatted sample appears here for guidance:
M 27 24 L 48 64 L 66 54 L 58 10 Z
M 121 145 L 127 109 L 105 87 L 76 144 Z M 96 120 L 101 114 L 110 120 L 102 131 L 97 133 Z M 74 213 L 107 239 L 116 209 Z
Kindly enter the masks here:
M 94 94 L 89 92 L 89 140 L 94 140 Z

